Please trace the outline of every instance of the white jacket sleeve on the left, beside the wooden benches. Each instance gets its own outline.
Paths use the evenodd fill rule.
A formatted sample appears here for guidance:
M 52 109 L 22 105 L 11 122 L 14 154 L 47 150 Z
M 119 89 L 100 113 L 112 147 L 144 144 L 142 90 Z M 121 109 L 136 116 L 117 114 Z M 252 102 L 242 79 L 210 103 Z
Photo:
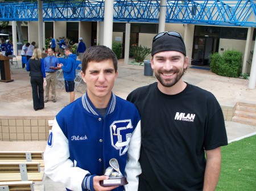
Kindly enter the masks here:
M 56 118 L 44 152 L 44 172 L 53 181 L 63 183 L 66 188 L 82 191 L 82 180 L 88 171 L 74 167 L 69 159 L 68 139 L 57 124 Z

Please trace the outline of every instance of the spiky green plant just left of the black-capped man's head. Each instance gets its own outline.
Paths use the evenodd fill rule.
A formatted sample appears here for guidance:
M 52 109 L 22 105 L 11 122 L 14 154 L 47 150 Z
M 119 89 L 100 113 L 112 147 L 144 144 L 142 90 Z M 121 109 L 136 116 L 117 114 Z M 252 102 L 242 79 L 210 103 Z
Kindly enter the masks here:
M 143 62 L 148 54 L 151 53 L 151 49 L 146 46 L 131 46 L 130 54 L 133 55 L 136 62 Z

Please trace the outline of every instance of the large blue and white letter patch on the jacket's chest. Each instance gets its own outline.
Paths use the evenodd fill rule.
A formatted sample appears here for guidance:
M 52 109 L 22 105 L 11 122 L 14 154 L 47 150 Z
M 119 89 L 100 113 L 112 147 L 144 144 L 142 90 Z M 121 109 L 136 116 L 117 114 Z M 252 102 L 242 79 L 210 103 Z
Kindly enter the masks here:
M 114 121 L 110 125 L 111 143 L 115 149 L 119 150 L 120 156 L 128 150 L 132 133 L 131 120 Z

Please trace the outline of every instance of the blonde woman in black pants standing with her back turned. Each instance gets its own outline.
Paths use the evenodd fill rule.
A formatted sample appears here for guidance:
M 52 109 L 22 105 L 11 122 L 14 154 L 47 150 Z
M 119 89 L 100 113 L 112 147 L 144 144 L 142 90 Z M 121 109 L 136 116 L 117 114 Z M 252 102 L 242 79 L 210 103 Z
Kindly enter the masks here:
M 46 86 L 46 71 L 39 48 L 34 49 L 32 57 L 27 62 L 26 69 L 30 71 L 33 107 L 35 111 L 38 111 L 38 109 L 44 108 L 44 86 Z

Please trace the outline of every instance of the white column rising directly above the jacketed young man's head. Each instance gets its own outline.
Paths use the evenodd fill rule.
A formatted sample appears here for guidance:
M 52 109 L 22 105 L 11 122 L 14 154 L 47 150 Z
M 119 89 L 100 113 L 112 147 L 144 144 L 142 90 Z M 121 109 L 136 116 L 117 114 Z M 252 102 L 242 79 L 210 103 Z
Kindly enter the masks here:
M 114 12 L 114 1 L 105 0 L 103 45 L 108 46 L 110 49 L 112 49 L 113 12 Z

